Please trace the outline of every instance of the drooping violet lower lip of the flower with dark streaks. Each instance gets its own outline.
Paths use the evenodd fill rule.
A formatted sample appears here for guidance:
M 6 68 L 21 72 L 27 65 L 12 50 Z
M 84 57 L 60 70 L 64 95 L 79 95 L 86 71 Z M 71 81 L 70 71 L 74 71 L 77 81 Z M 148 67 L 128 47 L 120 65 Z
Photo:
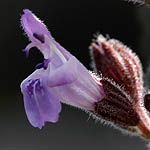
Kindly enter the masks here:
M 42 128 L 45 122 L 58 121 L 61 104 L 44 78 L 25 80 L 21 89 L 27 117 L 34 127 Z

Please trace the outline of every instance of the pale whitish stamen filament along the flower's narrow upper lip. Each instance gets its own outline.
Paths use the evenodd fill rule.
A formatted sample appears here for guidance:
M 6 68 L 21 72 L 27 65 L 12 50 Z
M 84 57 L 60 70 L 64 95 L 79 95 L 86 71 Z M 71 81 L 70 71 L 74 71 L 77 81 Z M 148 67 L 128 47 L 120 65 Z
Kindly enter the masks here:
M 67 62 L 66 58 L 63 56 L 63 54 L 58 50 L 58 48 L 54 45 L 54 43 L 50 40 L 50 38 L 47 35 L 44 35 L 45 39 L 49 43 L 50 49 L 53 50 L 59 58 L 62 60 L 63 63 Z

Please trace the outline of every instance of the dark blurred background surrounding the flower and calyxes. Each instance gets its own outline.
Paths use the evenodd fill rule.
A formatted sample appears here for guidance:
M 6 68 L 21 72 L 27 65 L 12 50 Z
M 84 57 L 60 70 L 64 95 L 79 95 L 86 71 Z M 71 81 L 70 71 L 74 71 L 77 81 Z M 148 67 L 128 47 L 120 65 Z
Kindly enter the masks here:
M 42 60 L 20 26 L 28 8 L 46 23 L 55 39 L 90 68 L 94 34 L 109 34 L 136 52 L 143 68 L 150 58 L 150 8 L 123 0 L 5 0 L 0 2 L 0 150 L 145 150 L 138 137 L 95 122 L 88 114 L 63 105 L 60 120 L 33 128 L 24 112 L 20 83 Z

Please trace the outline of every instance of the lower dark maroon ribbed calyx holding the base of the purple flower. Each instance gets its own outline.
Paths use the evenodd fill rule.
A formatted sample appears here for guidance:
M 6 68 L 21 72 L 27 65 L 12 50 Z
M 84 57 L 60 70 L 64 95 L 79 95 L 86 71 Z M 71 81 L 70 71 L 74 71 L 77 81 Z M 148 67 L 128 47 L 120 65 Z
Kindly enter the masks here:
M 101 83 L 106 96 L 95 103 L 95 113 L 121 127 L 138 125 L 140 119 L 128 95 L 107 79 Z

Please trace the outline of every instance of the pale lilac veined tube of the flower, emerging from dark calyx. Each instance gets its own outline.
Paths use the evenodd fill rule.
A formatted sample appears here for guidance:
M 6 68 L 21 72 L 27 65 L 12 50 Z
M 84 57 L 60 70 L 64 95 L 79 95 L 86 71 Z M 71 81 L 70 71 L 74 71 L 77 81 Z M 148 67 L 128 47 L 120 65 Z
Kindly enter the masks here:
M 104 97 L 103 87 L 75 57 L 67 63 L 48 77 L 48 86 L 56 86 L 54 89 L 61 102 L 93 110 L 94 103 Z

